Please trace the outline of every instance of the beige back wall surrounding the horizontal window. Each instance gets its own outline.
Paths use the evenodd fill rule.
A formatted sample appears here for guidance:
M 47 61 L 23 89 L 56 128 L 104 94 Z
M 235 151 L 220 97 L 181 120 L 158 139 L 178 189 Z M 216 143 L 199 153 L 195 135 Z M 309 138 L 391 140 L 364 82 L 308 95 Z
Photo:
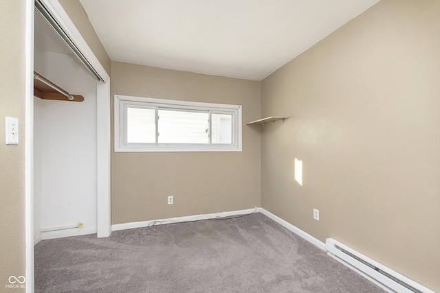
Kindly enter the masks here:
M 112 62 L 111 79 L 112 97 L 241 104 L 243 124 L 260 116 L 256 81 L 122 62 Z M 112 224 L 250 209 L 261 204 L 259 182 L 260 130 L 246 125 L 243 152 L 112 152 Z

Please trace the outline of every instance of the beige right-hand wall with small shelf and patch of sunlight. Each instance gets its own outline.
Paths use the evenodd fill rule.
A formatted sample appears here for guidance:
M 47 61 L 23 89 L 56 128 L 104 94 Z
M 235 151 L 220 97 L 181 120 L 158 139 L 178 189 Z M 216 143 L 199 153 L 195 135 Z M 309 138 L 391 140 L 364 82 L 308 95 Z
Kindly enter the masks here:
M 437 292 L 439 3 L 382 0 L 261 85 L 292 116 L 263 130 L 263 207 Z

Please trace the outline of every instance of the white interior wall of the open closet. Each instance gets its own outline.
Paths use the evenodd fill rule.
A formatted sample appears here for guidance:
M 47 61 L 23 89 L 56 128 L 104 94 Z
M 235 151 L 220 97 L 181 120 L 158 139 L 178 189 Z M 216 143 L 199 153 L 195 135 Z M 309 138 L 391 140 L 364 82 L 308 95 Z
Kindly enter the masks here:
M 96 233 L 96 80 L 67 48 L 56 44 L 58 36 L 50 34 L 50 27 L 41 30 L 36 24 L 34 70 L 85 100 L 34 97 L 35 242 Z M 41 233 L 79 221 L 82 230 Z

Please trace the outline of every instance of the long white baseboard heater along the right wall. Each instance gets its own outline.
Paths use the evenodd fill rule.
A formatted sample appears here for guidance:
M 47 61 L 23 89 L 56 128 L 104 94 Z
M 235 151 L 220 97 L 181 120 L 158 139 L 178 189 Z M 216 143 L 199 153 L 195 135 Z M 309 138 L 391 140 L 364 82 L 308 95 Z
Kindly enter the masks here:
M 332 238 L 326 239 L 327 254 L 345 266 L 354 269 L 364 277 L 388 292 L 398 293 L 435 293 L 419 283 L 387 268 L 373 259 L 340 244 Z

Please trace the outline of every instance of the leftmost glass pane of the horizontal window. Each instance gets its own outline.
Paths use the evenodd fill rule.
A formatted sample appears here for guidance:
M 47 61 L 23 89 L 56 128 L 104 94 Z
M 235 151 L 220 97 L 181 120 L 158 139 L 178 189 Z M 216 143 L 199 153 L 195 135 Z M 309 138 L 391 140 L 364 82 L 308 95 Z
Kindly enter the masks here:
M 156 142 L 156 111 L 147 108 L 126 108 L 126 142 Z

